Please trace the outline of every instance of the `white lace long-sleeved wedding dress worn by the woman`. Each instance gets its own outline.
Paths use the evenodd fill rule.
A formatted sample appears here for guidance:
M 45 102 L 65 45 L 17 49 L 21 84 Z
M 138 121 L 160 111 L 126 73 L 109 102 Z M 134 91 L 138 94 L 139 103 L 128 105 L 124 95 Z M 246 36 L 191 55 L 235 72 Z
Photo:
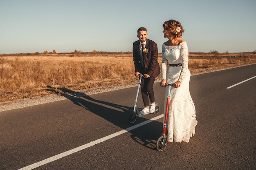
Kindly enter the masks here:
M 189 50 L 186 42 L 182 42 L 177 46 L 163 44 L 162 52 L 162 79 L 166 78 L 168 84 L 182 82 L 179 88 L 171 87 L 167 121 L 168 142 L 189 142 L 190 137 L 195 134 L 195 126 L 198 123 L 195 118 L 195 105 L 189 91 L 191 75 L 188 69 Z M 182 63 L 182 66 L 168 66 L 179 63 Z M 166 93 L 168 93 L 167 88 Z M 165 97 L 164 106 L 166 100 Z

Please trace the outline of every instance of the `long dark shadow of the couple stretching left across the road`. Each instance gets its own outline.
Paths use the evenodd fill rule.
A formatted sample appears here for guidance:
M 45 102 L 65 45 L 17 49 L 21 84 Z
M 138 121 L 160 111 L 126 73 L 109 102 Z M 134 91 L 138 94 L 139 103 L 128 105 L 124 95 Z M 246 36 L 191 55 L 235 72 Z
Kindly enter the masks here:
M 148 120 L 143 117 L 138 117 L 134 124 L 130 124 L 128 122 L 128 117 L 130 116 L 130 113 L 133 110 L 133 106 L 128 107 L 115 103 L 97 100 L 88 95 L 85 95 L 85 93 L 71 91 L 67 88 L 54 88 L 51 86 L 47 86 L 47 88 L 49 91 L 52 91 L 57 95 L 61 95 L 63 97 L 66 97 L 67 99 L 70 99 L 70 101 L 72 101 L 74 104 L 81 106 L 86 110 L 89 110 L 90 112 L 110 121 L 111 123 L 115 124 L 116 126 L 119 126 L 122 129 L 126 129 L 130 126 Z M 162 133 L 162 123 L 154 121 L 153 126 L 152 123 L 150 124 L 151 127 L 148 125 L 144 125 L 148 127 L 142 128 L 143 130 L 138 130 L 137 128 L 135 130 L 130 131 L 132 132 L 131 138 L 137 143 L 141 144 L 142 146 L 156 150 L 155 141 Z M 157 132 L 154 132 L 155 130 L 148 130 L 151 129 L 152 127 L 159 127 L 159 129 L 157 130 Z

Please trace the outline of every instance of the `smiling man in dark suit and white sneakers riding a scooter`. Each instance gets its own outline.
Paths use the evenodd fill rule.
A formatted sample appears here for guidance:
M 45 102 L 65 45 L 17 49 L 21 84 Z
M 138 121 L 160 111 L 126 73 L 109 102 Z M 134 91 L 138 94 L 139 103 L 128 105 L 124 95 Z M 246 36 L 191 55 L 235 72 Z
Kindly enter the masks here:
M 155 95 L 153 84 L 155 77 L 160 74 L 160 67 L 157 61 L 158 50 L 157 44 L 152 40 L 148 40 L 147 29 L 140 27 L 137 30 L 138 41 L 133 43 L 132 53 L 135 66 L 135 76 L 143 75 L 141 79 L 141 95 L 144 103 L 144 109 L 139 115 L 155 112 Z M 150 108 L 149 101 L 150 99 Z

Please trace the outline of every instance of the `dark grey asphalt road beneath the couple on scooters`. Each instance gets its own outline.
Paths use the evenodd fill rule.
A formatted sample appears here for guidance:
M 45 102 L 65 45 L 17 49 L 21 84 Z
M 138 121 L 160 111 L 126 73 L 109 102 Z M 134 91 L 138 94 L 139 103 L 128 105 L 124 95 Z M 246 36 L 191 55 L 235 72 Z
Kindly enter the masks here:
M 0 112 L 0 170 L 256 169 L 256 78 L 243 82 L 255 76 L 256 64 L 191 76 L 195 136 L 163 152 L 159 83 L 160 113 L 134 124 L 137 87 Z

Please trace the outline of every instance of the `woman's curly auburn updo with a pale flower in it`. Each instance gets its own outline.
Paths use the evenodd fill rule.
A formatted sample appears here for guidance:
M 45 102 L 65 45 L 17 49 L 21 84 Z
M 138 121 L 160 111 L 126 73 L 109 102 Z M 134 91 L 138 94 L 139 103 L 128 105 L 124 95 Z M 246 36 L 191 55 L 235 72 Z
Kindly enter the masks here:
M 181 37 L 182 33 L 184 33 L 183 26 L 180 22 L 175 20 L 168 20 L 163 24 L 164 32 L 168 33 L 169 35 L 173 35 L 175 38 Z

